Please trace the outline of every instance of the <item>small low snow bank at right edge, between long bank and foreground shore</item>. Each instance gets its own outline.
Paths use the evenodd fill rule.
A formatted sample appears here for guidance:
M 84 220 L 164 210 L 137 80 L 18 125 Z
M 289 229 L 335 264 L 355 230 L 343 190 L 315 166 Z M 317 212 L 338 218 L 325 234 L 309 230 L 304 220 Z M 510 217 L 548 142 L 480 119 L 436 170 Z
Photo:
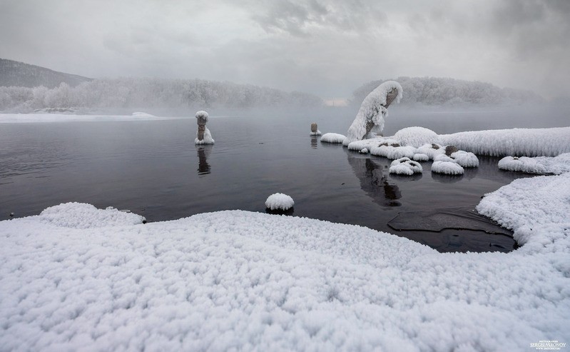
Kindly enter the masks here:
M 560 154 L 554 158 L 549 156 L 505 156 L 499 160 L 499 169 L 521 171 L 529 174 L 563 174 L 570 172 L 570 153 Z

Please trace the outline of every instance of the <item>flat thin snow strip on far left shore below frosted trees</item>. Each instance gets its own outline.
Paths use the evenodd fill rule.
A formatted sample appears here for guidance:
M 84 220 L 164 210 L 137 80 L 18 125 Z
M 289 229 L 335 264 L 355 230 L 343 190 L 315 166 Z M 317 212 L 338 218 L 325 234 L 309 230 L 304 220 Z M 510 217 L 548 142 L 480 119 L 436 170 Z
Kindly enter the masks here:
M 71 115 L 71 114 L 0 114 L 0 124 L 24 124 L 39 122 L 84 122 L 84 121 L 154 121 L 183 119 L 181 117 L 159 117 L 145 113 L 132 115 Z

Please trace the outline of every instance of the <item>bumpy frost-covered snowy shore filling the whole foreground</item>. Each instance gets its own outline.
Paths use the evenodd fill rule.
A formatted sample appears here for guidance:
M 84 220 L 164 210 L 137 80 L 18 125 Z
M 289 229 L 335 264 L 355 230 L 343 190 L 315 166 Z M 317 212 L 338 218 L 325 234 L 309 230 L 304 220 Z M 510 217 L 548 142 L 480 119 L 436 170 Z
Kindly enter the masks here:
M 570 341 L 570 174 L 480 212 L 511 253 L 245 211 L 141 224 L 86 204 L 0 222 L 0 346 L 42 351 L 524 351 Z

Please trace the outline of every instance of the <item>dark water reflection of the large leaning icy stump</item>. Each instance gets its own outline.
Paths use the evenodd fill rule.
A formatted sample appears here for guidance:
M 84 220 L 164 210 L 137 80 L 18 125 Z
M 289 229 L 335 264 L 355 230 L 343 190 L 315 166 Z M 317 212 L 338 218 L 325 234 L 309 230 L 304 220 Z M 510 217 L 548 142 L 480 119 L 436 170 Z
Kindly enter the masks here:
M 397 199 L 402 198 L 399 188 L 394 183 L 388 182 L 387 166 L 377 164 L 370 158 L 358 158 L 347 152 L 348 163 L 352 166 L 357 178 L 360 180 L 360 188 L 365 191 L 372 201 L 380 206 L 401 206 Z

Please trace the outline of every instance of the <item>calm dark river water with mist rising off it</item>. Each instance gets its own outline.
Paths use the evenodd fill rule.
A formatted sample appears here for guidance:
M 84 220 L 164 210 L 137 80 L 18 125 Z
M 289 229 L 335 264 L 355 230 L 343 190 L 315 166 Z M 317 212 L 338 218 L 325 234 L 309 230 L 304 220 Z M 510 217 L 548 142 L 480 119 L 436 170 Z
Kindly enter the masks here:
M 226 209 L 265 212 L 265 199 L 282 192 L 295 199 L 294 216 L 388 231 L 439 251 L 516 246 L 504 229 L 474 230 L 473 209 L 484 193 L 524 174 L 499 171 L 499 159 L 480 156 L 479 168 L 464 176 L 432 174 L 431 162 L 423 163 L 422 175 L 392 176 L 385 158 L 308 136 L 312 121 L 323 133 L 343 133 L 352 117 L 213 117 L 213 146 L 194 145 L 193 117 L 0 124 L 0 219 L 68 201 L 130 209 L 148 221 Z M 424 126 L 430 123 L 437 126 Z M 452 132 L 440 124 L 436 131 Z M 387 134 L 394 132 L 387 126 Z M 438 216 L 444 218 L 439 228 L 426 223 Z M 472 229 L 441 228 L 446 226 Z

